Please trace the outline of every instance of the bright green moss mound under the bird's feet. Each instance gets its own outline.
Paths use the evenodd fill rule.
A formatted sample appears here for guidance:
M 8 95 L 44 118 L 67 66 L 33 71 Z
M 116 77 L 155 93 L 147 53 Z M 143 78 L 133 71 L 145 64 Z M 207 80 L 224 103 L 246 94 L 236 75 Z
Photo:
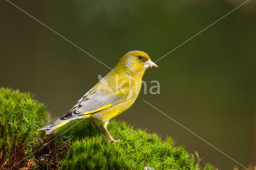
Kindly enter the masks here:
M 76 125 L 73 121 L 61 132 Z M 171 137 L 165 140 L 156 133 L 137 129 L 114 120 L 108 125 L 114 138 L 122 142 L 109 143 L 106 132 L 96 130 L 90 122 L 82 121 L 64 133 L 72 138 L 70 152 L 60 162 L 62 169 L 198 169 L 199 158 L 188 153 L 184 146 L 175 146 Z M 206 169 L 212 169 L 208 166 Z

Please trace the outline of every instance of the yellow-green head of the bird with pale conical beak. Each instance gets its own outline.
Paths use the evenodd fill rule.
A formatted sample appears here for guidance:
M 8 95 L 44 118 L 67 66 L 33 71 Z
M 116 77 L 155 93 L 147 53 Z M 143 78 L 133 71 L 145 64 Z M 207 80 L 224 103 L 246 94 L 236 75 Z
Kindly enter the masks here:
M 147 53 L 143 51 L 130 51 L 126 53 L 116 65 L 132 74 L 144 74 L 146 69 L 158 67 Z

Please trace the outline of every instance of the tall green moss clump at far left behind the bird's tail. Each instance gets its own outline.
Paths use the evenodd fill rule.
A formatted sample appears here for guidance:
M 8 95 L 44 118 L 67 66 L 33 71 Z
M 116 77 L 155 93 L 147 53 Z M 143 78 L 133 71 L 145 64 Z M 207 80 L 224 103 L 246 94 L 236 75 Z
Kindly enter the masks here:
M 0 88 L 0 147 L 7 166 L 38 148 L 37 136 L 44 135 L 36 129 L 47 119 L 44 105 L 32 99 L 30 93 Z

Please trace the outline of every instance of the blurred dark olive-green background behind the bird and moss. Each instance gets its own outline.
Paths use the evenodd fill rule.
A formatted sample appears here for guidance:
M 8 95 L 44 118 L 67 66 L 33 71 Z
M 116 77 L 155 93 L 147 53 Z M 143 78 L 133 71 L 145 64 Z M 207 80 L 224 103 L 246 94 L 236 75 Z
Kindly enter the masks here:
M 128 51 L 156 61 L 240 4 L 241 0 L 18 1 L 28 12 L 113 68 Z M 219 169 L 256 164 L 256 3 L 250 0 L 146 71 L 160 94 L 143 94 L 117 117 L 171 135 Z M 36 94 L 62 116 L 110 69 L 30 16 L 0 1 L 0 86 Z M 155 84 L 154 84 L 155 85 Z M 143 87 L 142 87 L 143 90 Z M 240 166 L 240 169 L 242 167 Z

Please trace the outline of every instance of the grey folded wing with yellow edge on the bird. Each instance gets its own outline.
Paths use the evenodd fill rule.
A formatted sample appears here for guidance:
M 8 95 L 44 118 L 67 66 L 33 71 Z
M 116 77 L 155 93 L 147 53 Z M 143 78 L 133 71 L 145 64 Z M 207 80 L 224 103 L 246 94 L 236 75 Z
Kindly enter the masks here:
M 128 100 L 129 94 L 116 95 L 105 89 L 91 89 L 68 111 L 62 120 L 89 115 Z

